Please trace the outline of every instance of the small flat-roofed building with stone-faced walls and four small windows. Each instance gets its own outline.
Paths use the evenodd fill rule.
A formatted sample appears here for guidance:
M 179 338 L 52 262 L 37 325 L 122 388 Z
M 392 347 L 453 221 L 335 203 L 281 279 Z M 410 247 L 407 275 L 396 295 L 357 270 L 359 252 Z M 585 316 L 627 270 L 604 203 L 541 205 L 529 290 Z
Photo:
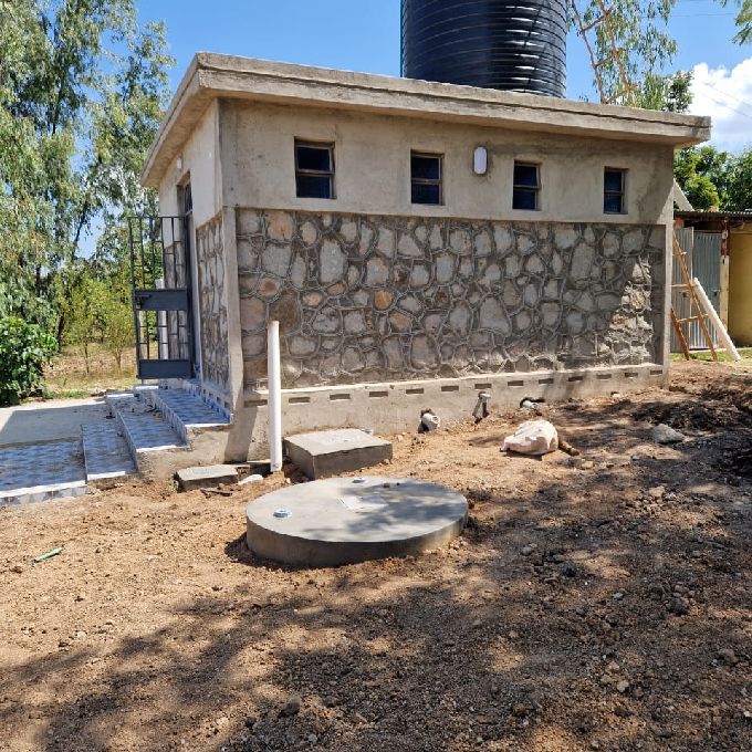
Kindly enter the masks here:
M 195 377 L 234 415 L 234 458 L 267 451 L 270 320 L 286 432 L 662 384 L 673 150 L 709 128 L 198 54 L 143 176 L 187 230 L 159 220 L 135 246 L 195 253 L 148 291 L 166 334 L 147 356 L 142 316 L 142 374 Z

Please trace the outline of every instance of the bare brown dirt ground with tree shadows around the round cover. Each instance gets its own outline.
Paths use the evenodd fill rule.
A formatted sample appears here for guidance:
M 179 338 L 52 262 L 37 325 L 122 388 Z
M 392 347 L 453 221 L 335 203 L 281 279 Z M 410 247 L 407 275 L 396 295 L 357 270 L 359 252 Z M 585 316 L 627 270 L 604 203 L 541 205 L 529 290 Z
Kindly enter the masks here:
M 752 750 L 752 374 L 546 416 L 581 458 L 502 455 L 523 411 L 396 440 L 472 505 L 419 558 L 254 560 L 283 479 L 1 510 L 0 749 Z

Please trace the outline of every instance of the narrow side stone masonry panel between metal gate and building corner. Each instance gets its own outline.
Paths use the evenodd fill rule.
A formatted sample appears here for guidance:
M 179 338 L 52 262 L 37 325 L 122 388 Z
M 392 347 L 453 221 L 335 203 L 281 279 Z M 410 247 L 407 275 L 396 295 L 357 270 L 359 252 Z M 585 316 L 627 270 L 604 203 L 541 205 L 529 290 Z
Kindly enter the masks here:
M 201 378 L 226 393 L 230 384 L 222 216 L 196 230 L 199 313 L 201 316 Z

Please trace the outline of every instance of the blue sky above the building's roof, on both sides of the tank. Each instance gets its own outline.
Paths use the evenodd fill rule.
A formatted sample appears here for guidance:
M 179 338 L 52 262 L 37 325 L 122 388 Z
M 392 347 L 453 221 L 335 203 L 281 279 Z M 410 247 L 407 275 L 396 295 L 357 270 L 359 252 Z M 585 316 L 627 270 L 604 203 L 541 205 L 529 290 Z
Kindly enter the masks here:
M 399 75 L 399 0 L 142 0 L 142 20 L 164 20 L 177 59 L 173 85 L 197 51 Z M 696 69 L 693 111 L 716 118 L 714 142 L 752 142 L 752 45 L 740 48 L 733 10 L 712 0 L 679 0 L 672 69 Z M 587 56 L 568 44 L 572 98 L 594 98 Z M 750 134 L 750 135 L 748 135 Z

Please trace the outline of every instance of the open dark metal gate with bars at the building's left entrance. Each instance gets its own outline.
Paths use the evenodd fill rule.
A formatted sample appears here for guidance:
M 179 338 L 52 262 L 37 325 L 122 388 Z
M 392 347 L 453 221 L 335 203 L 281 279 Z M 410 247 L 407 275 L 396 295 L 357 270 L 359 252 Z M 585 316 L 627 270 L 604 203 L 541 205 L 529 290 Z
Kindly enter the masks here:
M 130 217 L 138 378 L 191 378 L 190 243 L 184 217 Z

